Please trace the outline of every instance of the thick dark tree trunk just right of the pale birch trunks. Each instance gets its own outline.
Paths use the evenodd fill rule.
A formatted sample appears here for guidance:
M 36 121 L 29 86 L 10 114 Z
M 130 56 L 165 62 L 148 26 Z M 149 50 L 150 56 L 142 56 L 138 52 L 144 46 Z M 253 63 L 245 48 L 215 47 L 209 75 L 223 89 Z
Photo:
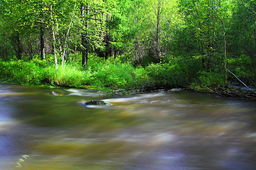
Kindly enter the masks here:
M 86 5 L 86 15 L 89 15 L 89 5 Z M 87 67 L 87 60 L 88 60 L 88 19 L 84 20 L 84 4 L 81 3 L 81 16 L 83 19 L 83 24 L 86 25 L 86 30 L 81 31 L 81 44 L 82 44 L 82 66 Z

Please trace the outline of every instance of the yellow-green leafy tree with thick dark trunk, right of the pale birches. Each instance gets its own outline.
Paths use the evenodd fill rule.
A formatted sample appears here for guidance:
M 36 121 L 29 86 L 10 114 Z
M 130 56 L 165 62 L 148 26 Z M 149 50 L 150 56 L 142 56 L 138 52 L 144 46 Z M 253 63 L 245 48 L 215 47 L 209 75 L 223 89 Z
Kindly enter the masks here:
M 81 1 L 81 51 L 82 66 L 87 67 L 89 50 L 104 53 L 109 50 L 109 18 L 115 1 Z

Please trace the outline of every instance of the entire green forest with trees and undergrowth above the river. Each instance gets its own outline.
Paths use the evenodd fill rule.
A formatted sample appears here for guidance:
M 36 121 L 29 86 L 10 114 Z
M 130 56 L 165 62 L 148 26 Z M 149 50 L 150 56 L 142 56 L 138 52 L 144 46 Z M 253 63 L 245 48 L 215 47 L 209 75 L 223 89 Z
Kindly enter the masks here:
M 0 15 L 1 82 L 256 84 L 256 0 L 1 0 Z

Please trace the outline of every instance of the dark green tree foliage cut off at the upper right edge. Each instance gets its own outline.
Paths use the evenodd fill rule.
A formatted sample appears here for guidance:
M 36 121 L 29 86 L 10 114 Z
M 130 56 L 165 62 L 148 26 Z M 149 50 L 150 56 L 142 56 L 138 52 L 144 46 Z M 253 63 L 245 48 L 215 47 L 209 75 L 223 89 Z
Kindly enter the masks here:
M 245 53 L 256 58 L 256 1 L 235 0 L 230 22 L 230 50 L 234 55 Z

